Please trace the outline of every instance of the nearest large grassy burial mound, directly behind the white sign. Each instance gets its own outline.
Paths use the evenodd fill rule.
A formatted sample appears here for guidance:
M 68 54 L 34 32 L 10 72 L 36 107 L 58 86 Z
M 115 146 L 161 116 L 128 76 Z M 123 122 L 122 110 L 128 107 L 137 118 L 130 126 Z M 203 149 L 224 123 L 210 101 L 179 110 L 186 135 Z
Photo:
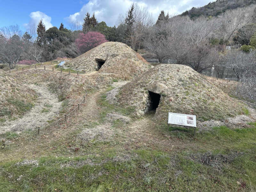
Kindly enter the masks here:
M 196 115 L 199 121 L 224 120 L 240 115 L 244 107 L 203 75 L 177 64 L 158 65 L 108 94 L 115 95 L 112 99 L 120 105 L 133 107 L 136 115 L 156 110 L 161 124 L 168 112 Z

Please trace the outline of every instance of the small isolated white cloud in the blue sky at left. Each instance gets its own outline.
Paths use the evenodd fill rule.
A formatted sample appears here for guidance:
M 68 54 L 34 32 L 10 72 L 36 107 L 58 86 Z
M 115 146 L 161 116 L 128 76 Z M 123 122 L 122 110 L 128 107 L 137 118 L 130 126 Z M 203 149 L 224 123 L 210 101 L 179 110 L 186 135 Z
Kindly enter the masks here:
M 40 12 L 40 11 L 31 12 L 29 14 L 29 17 L 30 17 L 29 23 L 24 24 L 26 28 L 30 26 L 36 26 L 41 19 L 45 25 L 46 30 L 53 27 L 51 23 L 52 18 L 43 12 Z

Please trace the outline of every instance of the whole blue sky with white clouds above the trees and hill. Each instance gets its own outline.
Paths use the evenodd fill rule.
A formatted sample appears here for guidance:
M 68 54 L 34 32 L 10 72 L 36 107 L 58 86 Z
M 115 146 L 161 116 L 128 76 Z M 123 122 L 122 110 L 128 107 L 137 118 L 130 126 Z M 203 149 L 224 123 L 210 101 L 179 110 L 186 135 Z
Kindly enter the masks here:
M 125 14 L 132 2 L 147 6 L 156 20 L 161 10 L 170 15 L 208 4 L 209 0 L 0 0 L 0 28 L 18 24 L 25 31 L 28 24 L 43 19 L 47 28 L 59 27 L 63 22 L 69 28 L 70 22 L 82 22 L 86 12 L 95 12 L 98 21 L 108 26 L 118 24 L 120 14 Z M 26 25 L 27 24 L 27 25 Z

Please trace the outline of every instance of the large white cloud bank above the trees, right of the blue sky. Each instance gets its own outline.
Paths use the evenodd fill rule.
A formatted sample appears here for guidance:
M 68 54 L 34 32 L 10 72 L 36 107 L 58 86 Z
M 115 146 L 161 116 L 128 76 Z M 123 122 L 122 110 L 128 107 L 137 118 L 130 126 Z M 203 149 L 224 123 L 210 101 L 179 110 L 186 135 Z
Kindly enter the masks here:
M 208 4 L 210 0 L 89 0 L 84 4 L 79 12 L 69 15 L 69 22 L 83 23 L 84 16 L 87 12 L 95 12 L 95 16 L 99 22 L 105 21 L 108 26 L 117 24 L 120 14 L 125 14 L 132 3 L 138 3 L 140 6 L 147 6 L 148 11 L 152 13 L 156 20 L 161 10 L 169 12 L 169 15 L 182 13 L 191 7 L 198 7 Z

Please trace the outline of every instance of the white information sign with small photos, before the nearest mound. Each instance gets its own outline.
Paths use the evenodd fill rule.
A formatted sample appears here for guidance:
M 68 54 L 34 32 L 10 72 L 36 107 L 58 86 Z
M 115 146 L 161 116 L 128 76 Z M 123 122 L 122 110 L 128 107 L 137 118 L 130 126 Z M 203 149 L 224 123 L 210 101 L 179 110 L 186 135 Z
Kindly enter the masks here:
M 169 113 L 168 124 L 196 127 L 196 116 L 180 113 Z

